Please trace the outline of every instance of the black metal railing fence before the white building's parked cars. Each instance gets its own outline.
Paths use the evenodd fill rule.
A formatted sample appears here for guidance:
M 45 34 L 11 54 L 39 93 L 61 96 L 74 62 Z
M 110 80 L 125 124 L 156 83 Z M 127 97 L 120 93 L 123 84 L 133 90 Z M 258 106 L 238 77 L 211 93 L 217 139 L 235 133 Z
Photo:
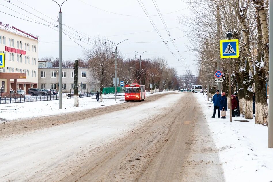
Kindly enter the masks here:
M 20 97 L 1 97 L 0 96 L 0 104 L 8 104 L 8 103 L 21 103 L 21 102 L 36 102 L 36 101 L 51 101 L 58 100 L 59 95 L 26 95 Z

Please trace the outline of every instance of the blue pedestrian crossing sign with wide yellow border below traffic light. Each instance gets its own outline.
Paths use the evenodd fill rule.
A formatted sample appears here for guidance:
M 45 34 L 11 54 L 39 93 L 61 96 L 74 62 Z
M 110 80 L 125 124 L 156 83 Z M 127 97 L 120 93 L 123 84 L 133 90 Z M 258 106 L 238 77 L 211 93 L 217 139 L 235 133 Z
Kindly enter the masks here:
M 220 40 L 220 57 L 221 58 L 238 58 L 239 57 L 239 40 Z

